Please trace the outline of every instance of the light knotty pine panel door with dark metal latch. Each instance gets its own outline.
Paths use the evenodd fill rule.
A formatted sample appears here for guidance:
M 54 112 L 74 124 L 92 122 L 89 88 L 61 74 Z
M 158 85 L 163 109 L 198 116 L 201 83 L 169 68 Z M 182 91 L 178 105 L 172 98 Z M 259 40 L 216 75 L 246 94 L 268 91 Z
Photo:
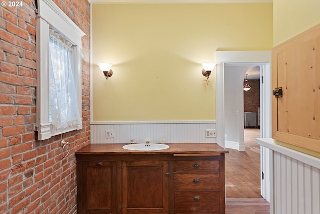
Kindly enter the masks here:
M 320 152 L 320 25 L 272 50 L 272 138 Z

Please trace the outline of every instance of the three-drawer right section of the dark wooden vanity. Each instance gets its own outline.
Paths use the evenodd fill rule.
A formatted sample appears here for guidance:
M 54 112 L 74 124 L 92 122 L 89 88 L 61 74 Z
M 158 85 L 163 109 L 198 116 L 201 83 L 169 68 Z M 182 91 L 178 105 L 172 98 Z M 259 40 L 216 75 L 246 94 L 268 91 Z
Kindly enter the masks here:
M 224 158 L 180 157 L 174 167 L 174 214 L 224 213 Z

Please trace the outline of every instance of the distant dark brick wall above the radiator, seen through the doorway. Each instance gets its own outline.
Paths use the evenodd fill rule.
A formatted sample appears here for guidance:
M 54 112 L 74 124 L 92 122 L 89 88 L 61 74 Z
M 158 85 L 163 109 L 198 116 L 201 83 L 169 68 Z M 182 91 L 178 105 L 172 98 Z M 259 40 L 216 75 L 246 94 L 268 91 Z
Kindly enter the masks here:
M 260 107 L 260 80 L 248 80 L 248 83 L 251 89 L 243 91 L 244 112 L 257 112 Z

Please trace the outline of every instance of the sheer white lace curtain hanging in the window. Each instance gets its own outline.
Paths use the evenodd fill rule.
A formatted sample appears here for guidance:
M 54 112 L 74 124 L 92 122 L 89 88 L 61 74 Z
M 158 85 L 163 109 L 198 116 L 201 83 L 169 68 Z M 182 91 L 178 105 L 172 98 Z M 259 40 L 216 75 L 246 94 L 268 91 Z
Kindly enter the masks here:
M 80 123 L 71 70 L 72 44 L 49 30 L 49 120 L 55 129 Z

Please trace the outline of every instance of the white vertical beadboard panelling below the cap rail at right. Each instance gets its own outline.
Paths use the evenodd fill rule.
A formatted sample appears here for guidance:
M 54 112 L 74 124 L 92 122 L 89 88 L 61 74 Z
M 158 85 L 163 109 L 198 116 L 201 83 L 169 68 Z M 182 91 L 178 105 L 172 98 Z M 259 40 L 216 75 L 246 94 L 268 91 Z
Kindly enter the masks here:
M 273 155 L 274 213 L 320 213 L 320 170 L 279 152 Z

